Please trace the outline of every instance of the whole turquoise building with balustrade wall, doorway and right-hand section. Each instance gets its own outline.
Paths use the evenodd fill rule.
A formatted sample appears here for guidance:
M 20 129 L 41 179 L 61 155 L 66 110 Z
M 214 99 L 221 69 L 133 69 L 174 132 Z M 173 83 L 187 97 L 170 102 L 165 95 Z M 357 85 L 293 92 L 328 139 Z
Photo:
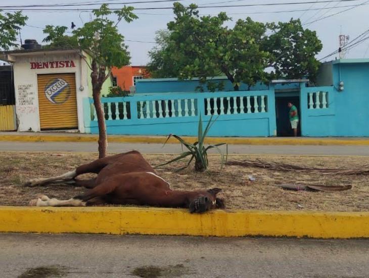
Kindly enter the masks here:
M 308 80 L 273 80 L 246 84 L 234 91 L 226 77 L 224 91 L 197 91 L 198 79 L 142 79 L 124 98 L 103 98 L 109 134 L 197 135 L 199 116 L 217 118 L 209 136 L 291 136 L 287 107 L 300 117 L 301 136 L 369 136 L 369 59 L 336 60 L 321 65 L 315 86 Z M 84 100 L 87 132 L 98 133 L 93 100 Z

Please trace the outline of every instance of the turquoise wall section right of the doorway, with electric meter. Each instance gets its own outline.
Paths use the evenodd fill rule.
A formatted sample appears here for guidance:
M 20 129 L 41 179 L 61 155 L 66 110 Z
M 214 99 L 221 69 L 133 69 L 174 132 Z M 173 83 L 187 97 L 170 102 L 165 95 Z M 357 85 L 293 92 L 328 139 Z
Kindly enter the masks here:
M 332 79 L 334 86 L 301 88 L 302 135 L 369 136 L 369 60 L 333 61 Z M 328 92 L 329 109 L 308 109 L 307 94 L 313 91 Z

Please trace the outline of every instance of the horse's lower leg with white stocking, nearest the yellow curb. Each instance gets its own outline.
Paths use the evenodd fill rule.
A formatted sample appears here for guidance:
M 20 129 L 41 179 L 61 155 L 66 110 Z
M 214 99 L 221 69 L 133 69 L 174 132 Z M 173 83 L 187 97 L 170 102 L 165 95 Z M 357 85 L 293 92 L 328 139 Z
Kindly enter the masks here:
M 102 197 L 111 193 L 115 189 L 115 187 L 115 183 L 104 182 L 99 184 L 99 186 L 89 190 L 87 193 L 75 196 L 68 200 L 58 200 L 55 198 L 50 199 L 48 196 L 38 195 L 37 199 L 31 200 L 29 202 L 29 205 L 37 207 L 81 207 L 85 206 L 86 202 L 91 199 Z

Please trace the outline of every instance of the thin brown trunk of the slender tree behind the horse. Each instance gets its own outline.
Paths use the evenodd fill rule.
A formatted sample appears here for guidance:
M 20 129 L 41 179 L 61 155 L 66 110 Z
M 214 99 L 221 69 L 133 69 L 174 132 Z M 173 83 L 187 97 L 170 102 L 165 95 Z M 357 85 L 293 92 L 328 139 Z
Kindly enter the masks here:
M 108 137 L 106 135 L 105 113 L 100 98 L 101 91 L 93 90 L 94 106 L 98 116 L 99 126 L 99 158 L 106 157 L 108 152 Z

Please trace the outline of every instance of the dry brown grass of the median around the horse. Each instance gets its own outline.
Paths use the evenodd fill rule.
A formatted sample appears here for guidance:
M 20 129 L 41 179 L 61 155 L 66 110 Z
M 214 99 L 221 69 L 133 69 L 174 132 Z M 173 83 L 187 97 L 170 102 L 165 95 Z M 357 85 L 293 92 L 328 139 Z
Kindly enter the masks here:
M 174 155 L 144 155 L 156 165 Z M 368 165 L 366 157 L 314 157 L 314 156 L 242 156 L 230 155 L 228 159 L 257 159 L 294 163 L 316 167 L 349 168 Z M 26 206 L 35 194 L 67 199 L 80 194 L 85 189 L 67 185 L 25 188 L 21 184 L 29 178 L 59 175 L 73 170 L 76 166 L 96 159 L 95 154 L 63 153 L 11 153 L 0 154 L 0 205 Z M 228 209 L 260 210 L 320 210 L 320 211 L 369 211 L 369 181 L 367 176 L 321 176 L 311 173 L 278 172 L 260 168 L 225 166 L 220 169 L 219 157 L 209 157 L 210 170 L 196 173 L 193 167 L 179 173 L 175 169 L 184 162 L 177 162 L 158 169 L 173 189 L 223 189 L 220 197 L 225 199 Z M 248 175 L 256 180 L 249 181 Z M 352 184 L 353 189 L 344 192 L 295 192 L 283 190 L 275 184 L 312 183 L 325 185 Z

